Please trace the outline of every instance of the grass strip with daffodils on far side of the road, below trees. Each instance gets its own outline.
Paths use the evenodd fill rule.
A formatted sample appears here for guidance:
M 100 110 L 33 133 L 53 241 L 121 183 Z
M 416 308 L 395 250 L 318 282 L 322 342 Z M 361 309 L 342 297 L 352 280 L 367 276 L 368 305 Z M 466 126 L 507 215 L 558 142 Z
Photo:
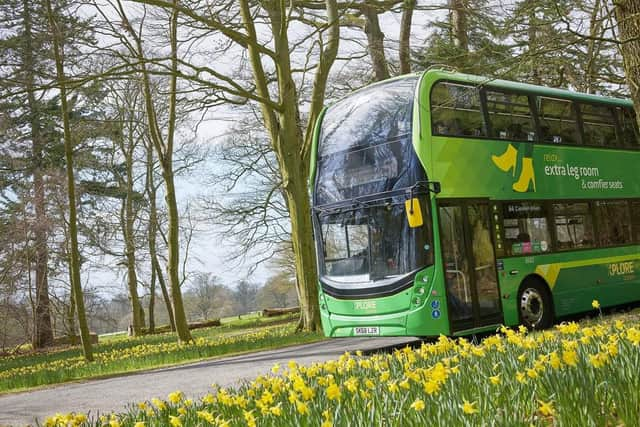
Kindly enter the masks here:
M 79 347 L 3 357 L 0 358 L 0 392 L 22 391 L 322 339 L 319 334 L 295 333 L 295 325 L 291 316 L 229 322 L 220 327 L 192 331 L 194 342 L 189 344 L 178 344 L 175 335 L 170 333 L 136 338 L 113 335 L 94 346 L 94 362 L 86 362 Z

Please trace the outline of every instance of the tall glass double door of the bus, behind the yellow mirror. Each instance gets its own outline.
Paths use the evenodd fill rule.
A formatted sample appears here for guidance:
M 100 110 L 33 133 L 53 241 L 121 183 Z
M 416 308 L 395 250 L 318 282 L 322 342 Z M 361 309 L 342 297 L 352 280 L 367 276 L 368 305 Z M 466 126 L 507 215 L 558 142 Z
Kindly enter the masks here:
M 439 205 L 451 331 L 503 322 L 488 202 Z

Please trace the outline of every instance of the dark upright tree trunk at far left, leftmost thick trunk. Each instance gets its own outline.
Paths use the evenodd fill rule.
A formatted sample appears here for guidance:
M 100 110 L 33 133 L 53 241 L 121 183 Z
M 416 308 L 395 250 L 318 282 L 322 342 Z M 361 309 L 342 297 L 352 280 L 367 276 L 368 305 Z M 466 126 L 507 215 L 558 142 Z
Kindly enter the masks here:
M 33 325 L 33 348 L 42 348 L 53 343 L 51 328 L 51 304 L 49 301 L 49 248 L 47 242 L 48 220 L 45 203 L 44 177 L 42 172 L 42 135 L 40 132 L 40 114 L 35 97 L 34 58 L 31 32 L 30 2 L 23 0 L 24 50 L 23 63 L 25 70 L 25 89 L 31 126 L 31 144 L 33 150 L 33 190 L 35 205 L 35 269 L 36 269 L 36 301 Z

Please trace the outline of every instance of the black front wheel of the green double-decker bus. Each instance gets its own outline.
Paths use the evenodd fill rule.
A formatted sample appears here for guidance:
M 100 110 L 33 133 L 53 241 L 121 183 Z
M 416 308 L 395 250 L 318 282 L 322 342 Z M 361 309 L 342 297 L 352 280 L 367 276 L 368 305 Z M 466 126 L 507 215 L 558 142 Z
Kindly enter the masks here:
M 546 329 L 553 324 L 553 302 L 549 289 L 538 281 L 525 281 L 518 293 L 520 323 L 528 329 Z

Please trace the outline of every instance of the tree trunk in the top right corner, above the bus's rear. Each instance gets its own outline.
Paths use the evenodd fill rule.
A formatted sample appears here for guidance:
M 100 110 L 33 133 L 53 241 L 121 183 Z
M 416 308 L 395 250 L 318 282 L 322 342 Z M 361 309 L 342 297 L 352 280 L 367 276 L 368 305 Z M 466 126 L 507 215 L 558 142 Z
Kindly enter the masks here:
M 640 124 L 640 1 L 618 0 L 613 4 L 625 77 Z

